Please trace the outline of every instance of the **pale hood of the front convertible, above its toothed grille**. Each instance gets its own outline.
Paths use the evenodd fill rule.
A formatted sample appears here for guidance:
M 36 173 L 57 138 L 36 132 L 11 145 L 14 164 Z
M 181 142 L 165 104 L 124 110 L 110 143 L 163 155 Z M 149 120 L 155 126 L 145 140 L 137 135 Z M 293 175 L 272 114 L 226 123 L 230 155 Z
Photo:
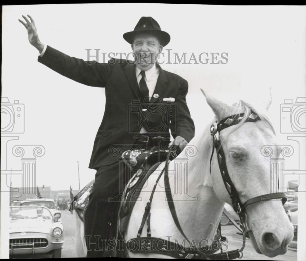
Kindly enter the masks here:
M 38 233 L 50 233 L 52 222 L 48 220 L 38 221 L 37 219 L 16 219 L 11 220 L 9 233 L 18 232 L 38 232 Z

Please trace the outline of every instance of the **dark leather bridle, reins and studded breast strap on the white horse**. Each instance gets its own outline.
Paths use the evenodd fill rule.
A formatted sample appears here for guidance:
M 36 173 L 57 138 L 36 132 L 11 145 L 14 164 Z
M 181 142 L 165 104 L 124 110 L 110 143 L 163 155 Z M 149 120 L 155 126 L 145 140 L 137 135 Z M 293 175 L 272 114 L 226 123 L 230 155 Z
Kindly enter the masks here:
M 138 234 L 136 238 L 133 238 L 132 241 L 128 241 L 126 244 L 127 249 L 129 249 L 131 252 L 141 252 L 141 253 L 159 253 L 159 254 L 165 254 L 165 255 L 170 255 L 172 257 L 175 258 L 179 258 L 179 259 L 221 259 L 221 260 L 226 260 L 226 259 L 236 259 L 236 258 L 242 258 L 243 254 L 242 251 L 244 249 L 245 246 L 245 240 L 246 237 L 248 236 L 248 232 L 250 232 L 251 230 L 248 229 L 247 226 L 247 215 L 246 215 L 246 207 L 250 204 L 253 203 L 257 203 L 260 201 L 265 201 L 265 200 L 270 200 L 270 199 L 278 199 L 281 198 L 282 199 L 282 203 L 284 204 L 287 200 L 287 198 L 285 197 L 285 195 L 283 193 L 270 193 L 270 194 L 265 194 L 265 195 L 260 195 L 260 196 L 256 196 L 253 197 L 251 199 L 248 199 L 246 202 L 242 203 L 239 195 L 237 193 L 237 190 L 235 188 L 235 186 L 233 185 L 233 182 L 231 181 L 230 175 L 227 171 L 227 167 L 226 167 L 226 161 L 225 161 L 225 154 L 224 151 L 222 149 L 221 146 L 221 142 L 219 140 L 219 132 L 227 127 L 233 126 L 238 124 L 239 122 L 241 122 L 241 120 L 243 119 L 244 114 L 235 114 L 232 115 L 230 117 L 226 117 L 225 119 L 217 122 L 214 122 L 211 125 L 210 128 L 210 134 L 211 136 L 213 136 L 213 149 L 212 149 L 212 153 L 211 153 L 211 158 L 210 158 L 210 173 L 211 173 L 211 161 L 214 155 L 214 151 L 216 150 L 217 153 L 217 158 L 218 158 L 218 165 L 219 165 L 219 169 L 220 169 L 220 173 L 222 176 L 222 180 L 224 182 L 224 185 L 226 187 L 227 192 L 230 195 L 230 199 L 232 201 L 232 206 L 234 211 L 239 215 L 240 218 L 240 228 L 238 228 L 238 226 L 236 225 L 236 227 L 241 231 L 241 233 L 243 235 L 243 240 L 242 240 L 242 247 L 240 249 L 236 249 L 236 250 L 231 250 L 231 251 L 226 251 L 223 252 L 222 251 L 222 246 L 221 246 L 221 241 L 224 241 L 224 239 L 226 240 L 225 237 L 221 236 L 221 225 L 219 223 L 219 227 L 217 232 L 219 232 L 219 239 L 218 239 L 218 244 L 214 245 L 212 244 L 211 246 L 209 246 L 207 249 L 199 249 L 196 248 L 196 246 L 193 246 L 190 242 L 190 240 L 188 240 L 188 238 L 186 237 L 185 233 L 183 232 L 180 222 L 177 218 L 177 214 L 175 211 L 175 207 L 174 207 L 174 202 L 173 202 L 173 198 L 172 198 L 172 193 L 171 193 L 171 188 L 170 188 L 170 183 L 169 183 L 169 177 L 168 177 L 168 165 L 169 165 L 169 153 L 167 155 L 167 159 L 166 159 L 166 165 L 164 167 L 164 169 L 162 170 L 162 172 L 159 174 L 159 177 L 157 179 L 157 181 L 155 182 L 155 185 L 152 189 L 152 193 L 151 193 L 151 197 L 149 199 L 149 201 L 147 202 L 147 205 L 145 207 L 145 212 L 144 212 L 144 216 L 140 225 L 140 228 L 138 230 Z M 257 114 L 255 114 L 254 112 L 251 112 L 251 114 L 246 118 L 246 120 L 244 122 L 256 122 L 259 121 L 260 118 Z M 151 202 L 153 199 L 153 194 L 155 192 L 155 188 L 156 185 L 158 184 L 159 179 L 161 178 L 162 174 L 164 174 L 164 181 L 165 181 L 165 192 L 166 192 L 166 199 L 168 202 L 168 206 L 172 215 L 172 218 L 175 222 L 175 225 L 177 226 L 177 229 L 180 231 L 181 235 L 187 240 L 187 242 L 190 244 L 189 247 L 187 248 L 183 248 L 182 246 L 178 245 L 177 243 L 173 243 L 169 240 L 164 240 L 164 239 L 160 239 L 160 238 L 155 238 L 155 237 L 151 237 L 151 228 L 150 228 L 150 208 L 151 208 Z M 278 184 L 279 185 L 279 184 Z M 227 213 L 228 214 L 228 213 Z M 226 215 L 228 216 L 228 215 Z M 232 222 L 233 220 L 230 219 Z M 140 237 L 142 229 L 144 227 L 145 222 L 147 222 L 147 237 Z M 235 223 L 233 223 L 235 224 Z M 155 248 L 152 248 L 152 245 L 154 244 L 154 242 L 157 242 L 159 240 L 159 245 L 158 247 L 161 249 L 156 249 L 157 246 L 155 244 Z M 138 249 L 135 249 L 135 245 L 138 247 Z M 166 247 L 169 247 L 172 249 L 171 251 L 167 250 Z M 216 249 L 217 247 L 217 249 Z M 132 249 L 133 248 L 133 249 Z M 175 250 L 174 250 L 175 248 Z M 218 249 L 220 249 L 220 253 L 215 254 L 214 252 L 216 252 Z

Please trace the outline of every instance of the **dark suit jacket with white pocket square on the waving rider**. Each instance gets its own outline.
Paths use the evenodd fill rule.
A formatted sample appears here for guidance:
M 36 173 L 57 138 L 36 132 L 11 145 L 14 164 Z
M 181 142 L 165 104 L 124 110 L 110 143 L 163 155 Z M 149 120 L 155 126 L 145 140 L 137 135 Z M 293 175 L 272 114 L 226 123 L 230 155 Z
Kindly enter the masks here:
M 98 166 L 110 165 L 118 160 L 118 156 L 134 143 L 133 137 L 139 135 L 141 129 L 139 111 L 137 112 L 136 108 L 140 106 L 140 91 L 135 65 L 114 58 L 108 63 L 85 63 L 82 59 L 70 57 L 50 46 L 47 46 L 43 57 L 39 57 L 38 61 L 79 83 L 105 88 L 105 111 L 95 137 L 89 168 L 96 169 Z M 195 127 L 186 104 L 187 92 L 186 80 L 160 68 L 154 91 L 159 97 L 152 97 L 147 107 L 148 111 L 160 111 L 162 108 L 162 114 L 166 115 L 155 136 L 170 138 L 170 128 L 174 138 L 181 136 L 187 142 L 193 138 Z M 162 98 L 170 97 L 175 98 L 173 103 L 162 101 Z M 151 119 L 151 123 L 156 121 L 154 115 L 148 118 Z M 151 123 L 149 120 L 148 124 Z

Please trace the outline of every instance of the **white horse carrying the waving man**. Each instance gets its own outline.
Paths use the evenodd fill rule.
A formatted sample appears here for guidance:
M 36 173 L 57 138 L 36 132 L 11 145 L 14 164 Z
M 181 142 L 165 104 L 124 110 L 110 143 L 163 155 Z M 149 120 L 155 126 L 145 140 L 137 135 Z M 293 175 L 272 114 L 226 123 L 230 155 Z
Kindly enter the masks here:
M 250 110 L 260 117 L 260 121 L 242 122 L 222 130 L 220 141 L 226 155 L 228 173 L 241 202 L 270 193 L 271 182 L 277 180 L 277 174 L 270 171 L 269 159 L 261 154 L 261 148 L 264 145 L 277 144 L 270 121 L 264 114 L 243 101 L 235 106 L 228 106 L 207 95 L 205 97 L 215 113 L 213 122 L 234 114 L 248 115 Z M 271 101 L 266 109 L 270 103 Z M 215 238 L 224 203 L 231 204 L 221 177 L 216 153 L 210 164 L 213 146 L 210 126 L 211 124 L 203 132 L 198 131 L 181 154 L 169 163 L 169 181 L 177 217 L 186 237 L 196 245 L 201 244 L 203 239 Z M 180 158 L 186 158 L 190 146 L 196 148 L 195 155 L 188 158 L 187 165 L 178 164 Z M 278 153 L 280 152 L 281 150 L 278 150 Z M 141 200 L 135 203 L 125 230 L 126 241 L 136 237 L 146 203 L 151 195 L 150 191 L 164 166 L 165 162 L 160 164 L 140 192 Z M 161 177 L 151 202 L 151 236 L 174 242 L 185 242 L 170 213 L 164 188 L 164 178 Z M 249 235 L 256 252 L 268 257 L 285 254 L 287 245 L 293 239 L 293 226 L 280 199 L 253 203 L 246 207 L 246 214 L 247 226 L 251 229 Z M 80 230 L 79 222 L 77 229 Z M 141 237 L 146 236 L 147 229 L 144 228 Z M 76 240 L 82 239 L 79 237 Z M 143 254 L 128 251 L 128 254 L 129 257 L 136 258 L 170 258 L 156 253 Z

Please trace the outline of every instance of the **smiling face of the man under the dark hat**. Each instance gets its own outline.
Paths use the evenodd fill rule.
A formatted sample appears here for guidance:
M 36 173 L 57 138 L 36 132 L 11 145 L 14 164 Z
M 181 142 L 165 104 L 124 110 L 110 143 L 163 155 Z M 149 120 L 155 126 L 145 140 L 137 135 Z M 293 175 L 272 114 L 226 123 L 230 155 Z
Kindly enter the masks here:
M 136 54 L 136 66 L 142 71 L 147 71 L 155 64 L 157 54 L 162 51 L 162 46 L 156 36 L 140 34 L 135 36 L 132 50 Z

